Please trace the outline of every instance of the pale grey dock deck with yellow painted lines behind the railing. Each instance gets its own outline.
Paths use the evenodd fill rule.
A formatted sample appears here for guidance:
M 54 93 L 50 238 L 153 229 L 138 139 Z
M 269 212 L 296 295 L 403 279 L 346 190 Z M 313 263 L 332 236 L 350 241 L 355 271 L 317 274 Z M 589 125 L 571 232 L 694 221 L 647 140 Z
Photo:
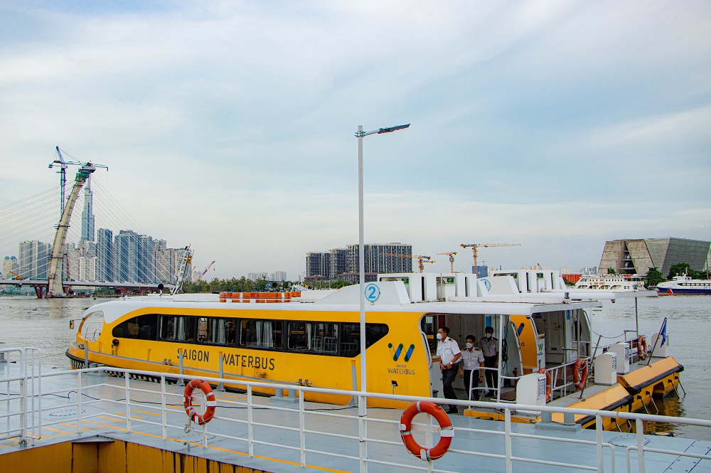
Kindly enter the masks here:
M 4 382 L 8 377 L 18 376 L 18 372 L 14 363 L 0 365 L 0 416 L 15 413 L 18 409 L 19 401 L 11 400 L 13 395 L 20 393 L 18 383 Z M 78 448 L 77 442 L 91 445 L 126 442 L 161 452 L 159 456 L 164 459 L 166 455 L 173 455 L 172 462 L 176 461 L 175 455 L 179 455 L 183 459 L 192 458 L 193 462 L 205 459 L 246 467 L 246 471 L 303 472 L 302 462 L 306 469 L 359 471 L 356 407 L 218 392 L 216 417 L 204 428 L 193 424 L 195 428 L 186 434 L 183 427 L 187 416 L 183 410 L 183 388 L 180 386 L 165 385 L 165 394 L 162 394 L 161 387 L 164 385 L 161 383 L 130 380 L 130 402 L 127 403 L 127 380 L 124 378 L 80 374 L 78 371 L 43 371 L 43 375 L 59 373 L 62 373 L 61 376 L 42 378 L 41 393 L 44 395 L 32 396 L 28 391 L 28 405 L 32 403 L 35 408 L 31 420 L 28 420 L 28 432 L 39 433 L 41 418 L 41 438 L 29 439 L 28 445 L 18 444 L 17 437 L 0 440 L 0 471 L 23 466 L 31 469 L 33 465 L 46 462 L 43 447 L 63 442 L 73 442 L 75 449 Z M 77 389 L 79 376 L 81 386 Z M 80 398 L 81 403 L 78 403 Z M 40 400 L 41 410 L 38 406 Z M 412 469 L 427 471 L 427 462 L 411 455 L 402 445 L 399 430 L 401 414 L 400 410 L 368 409 L 370 473 Z M 544 467 L 540 462 L 547 463 L 547 472 L 596 469 L 598 465 L 595 430 L 540 430 L 535 425 L 493 422 L 463 415 L 452 415 L 450 418 L 455 427 L 451 449 L 442 459 L 434 462 L 434 471 L 504 472 L 507 470 L 507 450 L 515 472 L 540 472 Z M 420 415 L 416 420 L 422 422 L 424 416 Z M 0 417 L 0 437 L 3 432 L 18 430 L 21 427 L 19 422 L 17 416 L 7 418 L 7 421 Z M 428 430 L 427 425 L 417 428 Z M 506 435 L 507 430 L 510 436 Z M 628 462 L 626 447 L 639 445 L 637 436 L 619 432 L 599 434 L 606 443 L 603 449 L 604 469 L 613 471 L 614 462 L 616 471 L 625 471 Z M 416 432 L 415 437 L 420 444 L 424 444 L 426 435 L 425 432 Z M 434 438 L 437 442 L 438 436 L 434 435 Z M 646 472 L 711 473 L 711 459 L 678 455 L 678 452 L 690 452 L 708 456 L 711 442 L 656 435 L 645 435 L 643 442 L 647 450 L 644 453 Z M 650 449 L 669 450 L 677 454 L 668 455 Z M 24 455 L 13 455 L 18 452 L 24 452 Z M 33 455 L 33 452 L 36 453 Z M 146 454 L 143 457 L 145 459 Z M 538 463 L 530 462 L 532 459 Z M 55 458 L 53 461 L 62 460 Z M 573 464 L 577 468 L 555 463 Z M 638 471 L 636 452 L 631 452 L 630 465 L 630 471 Z M 120 471 L 132 470 L 122 467 Z

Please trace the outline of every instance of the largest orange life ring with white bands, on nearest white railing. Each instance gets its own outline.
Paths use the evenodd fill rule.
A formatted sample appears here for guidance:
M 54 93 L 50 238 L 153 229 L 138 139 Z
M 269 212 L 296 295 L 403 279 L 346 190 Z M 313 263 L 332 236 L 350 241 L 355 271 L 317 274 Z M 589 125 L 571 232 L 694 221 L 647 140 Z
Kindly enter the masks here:
M 432 415 L 439 424 L 439 443 L 432 448 L 422 447 L 417 443 L 415 437 L 412 437 L 412 419 L 419 413 Z M 451 438 L 454 437 L 454 427 L 451 426 L 449 415 L 439 405 L 431 403 L 429 400 L 420 400 L 417 403 L 408 405 L 405 412 L 402 413 L 400 435 L 402 436 L 402 443 L 405 444 L 405 447 L 410 450 L 412 455 L 425 461 L 436 460 L 442 458 L 449 450 Z

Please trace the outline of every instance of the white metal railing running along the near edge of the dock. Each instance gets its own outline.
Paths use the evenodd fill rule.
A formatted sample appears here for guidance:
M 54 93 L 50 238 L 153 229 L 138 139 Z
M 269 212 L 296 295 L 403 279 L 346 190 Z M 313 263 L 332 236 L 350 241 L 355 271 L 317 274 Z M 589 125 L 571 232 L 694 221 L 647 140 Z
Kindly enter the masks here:
M 28 350 L 21 349 L 9 349 L 7 352 L 14 351 L 19 354 L 19 356 L 25 356 Z M 10 370 L 7 370 L 7 376 L 0 378 L 0 386 L 4 383 L 6 386 L 5 393 L 2 395 L 5 398 L 0 400 L 6 401 L 6 412 L 2 417 L 7 417 L 8 419 L 12 416 L 18 416 L 19 421 L 16 422 L 20 425 L 20 428 L 11 425 L 11 422 L 7 422 L 7 427 L 0 431 L 0 437 L 2 438 L 13 438 L 18 437 L 20 442 L 26 442 L 28 438 L 35 439 L 39 438 L 39 435 L 30 435 L 28 433 L 31 430 L 27 426 L 28 419 L 40 419 L 43 413 L 48 410 L 56 410 L 58 405 L 42 405 L 39 400 L 43 396 L 59 396 L 60 398 L 66 398 L 68 403 L 60 404 L 59 407 L 63 410 L 73 410 L 76 409 L 75 415 L 73 415 L 72 420 L 76 422 L 77 433 L 82 432 L 82 428 L 85 424 L 92 423 L 93 418 L 100 416 L 114 418 L 125 422 L 125 429 L 127 432 L 139 432 L 139 425 L 152 425 L 159 427 L 161 430 L 162 438 L 164 440 L 169 440 L 169 432 L 171 431 L 188 431 L 188 426 L 182 425 L 179 421 L 176 423 L 176 419 L 185 419 L 185 413 L 181 406 L 182 394 L 181 393 L 170 393 L 166 390 L 166 376 L 170 378 L 176 378 L 179 375 L 166 373 L 158 373 L 153 371 L 132 371 L 122 368 L 111 368 L 114 373 L 122 373 L 124 376 L 123 383 L 107 383 L 99 382 L 96 378 L 89 378 L 87 381 L 87 376 L 91 376 L 91 373 L 100 373 L 103 368 L 90 368 L 77 371 L 52 371 L 50 373 L 33 373 L 28 371 L 25 367 L 26 364 L 22 365 L 23 368 L 20 370 L 21 373 L 18 375 L 12 375 Z M 4 375 L 4 372 L 0 371 L 0 375 Z M 131 375 L 138 376 L 151 376 L 160 380 L 160 389 L 146 389 L 146 385 L 136 386 L 137 382 L 131 381 Z M 61 378 L 62 383 L 65 385 L 59 390 L 34 393 L 29 397 L 37 398 L 38 402 L 28 402 L 28 395 L 23 391 L 22 386 L 32 386 L 35 381 L 47 378 Z M 191 378 L 188 376 L 183 376 L 183 378 Z M 235 383 L 235 380 L 224 379 L 224 378 L 202 378 L 205 381 L 215 385 L 218 383 Z M 71 380 L 71 381 L 68 381 Z M 257 402 L 257 396 L 255 396 L 254 390 L 256 387 L 260 388 L 274 388 L 274 389 L 284 389 L 285 386 L 279 383 L 262 383 L 257 381 L 239 381 L 240 386 L 245 386 L 247 393 L 245 400 L 227 400 L 220 399 L 218 413 L 220 410 L 224 412 L 233 411 L 233 408 L 239 408 L 240 411 L 237 414 L 246 411 L 246 415 L 220 415 L 215 417 L 215 422 L 211 423 L 208 429 L 208 425 L 203 425 L 199 427 L 201 429 L 201 444 L 203 447 L 208 447 L 208 440 L 230 440 L 232 442 L 238 442 L 246 450 L 246 454 L 249 457 L 255 457 L 255 447 L 269 447 L 270 449 L 277 449 L 284 452 L 298 452 L 299 454 L 299 464 L 301 466 L 306 466 L 306 459 L 308 457 L 316 457 L 323 455 L 326 457 L 336 457 L 344 460 L 350 460 L 352 462 L 357 462 L 360 471 L 365 471 L 368 464 L 379 464 L 386 465 L 390 469 L 405 469 L 405 470 L 420 470 L 428 472 L 447 472 L 445 469 L 436 469 L 434 467 L 434 462 L 420 462 L 415 459 L 415 457 L 410 458 L 410 463 L 405 464 L 405 462 L 400 459 L 400 461 L 392 461 L 390 455 L 368 455 L 368 446 L 376 445 L 389 445 L 392 447 L 402 448 L 402 442 L 400 442 L 400 421 L 392 420 L 387 418 L 375 418 L 373 416 L 368 417 L 365 402 L 368 398 L 378 398 L 387 400 L 399 400 L 405 402 L 415 402 L 419 400 L 425 400 L 425 398 L 417 398 L 413 396 L 402 396 L 402 395 L 387 395 L 380 393 L 360 393 L 358 391 L 351 390 L 328 390 L 324 388 L 311 388 L 307 386 L 294 386 L 289 385 L 289 389 L 297 390 L 299 393 L 298 405 L 291 407 L 288 405 L 272 405 L 263 404 Z M 11 386 L 20 386 L 21 392 L 19 395 L 14 396 L 14 400 L 20 400 L 19 403 L 10 404 L 9 396 Z M 37 383 L 39 387 L 39 383 Z M 154 384 L 147 385 L 155 387 Z M 120 397 L 118 399 L 107 397 L 107 392 L 116 392 Z M 99 393 L 102 394 L 100 397 Z M 306 402 L 304 401 L 304 393 L 330 393 L 336 395 L 353 396 L 357 401 L 358 413 L 349 412 L 348 408 L 345 410 L 336 412 L 321 412 L 316 410 L 307 410 Z M 73 394 L 76 395 L 75 402 L 72 402 Z M 86 399 L 85 399 L 86 398 Z M 141 399 L 138 399 L 141 398 Z M 262 398 L 263 400 L 264 398 Z M 175 400 L 171 403 L 171 400 Z M 432 402 L 442 403 L 441 398 L 427 398 Z M 513 464 L 515 462 L 540 464 L 547 466 L 565 467 L 569 469 L 584 469 L 589 471 L 604 472 L 606 469 L 606 463 L 609 464 L 609 471 L 615 472 L 615 450 L 614 445 L 609 442 L 604 442 L 603 438 L 603 420 L 604 418 L 622 418 L 627 420 L 633 420 L 636 422 L 636 446 L 629 447 L 626 450 L 626 471 L 631 472 L 632 462 L 631 462 L 631 451 L 636 450 L 637 452 L 637 470 L 638 472 L 645 472 L 645 452 L 654 452 L 665 455 L 675 455 L 675 456 L 685 456 L 693 457 L 696 459 L 711 459 L 710 455 L 696 455 L 691 453 L 686 453 L 683 451 L 676 450 L 661 450 L 645 447 L 644 437 L 643 437 L 643 421 L 651 422 L 667 422 L 674 425 L 696 425 L 702 427 L 711 427 L 711 420 L 697 420 L 688 418 L 671 418 L 661 415 L 643 415 L 636 413 L 622 413 L 622 412 L 609 412 L 609 411 L 597 411 L 597 410 L 585 410 L 585 409 L 570 409 L 570 408 L 554 408 L 548 405 L 519 405 L 519 404 L 508 404 L 508 403 L 481 403 L 473 402 L 467 400 L 446 400 L 447 403 L 452 405 L 474 405 L 476 407 L 488 407 L 495 408 L 503 413 L 504 422 L 503 430 L 501 422 L 491 422 L 491 427 L 488 428 L 469 428 L 469 427 L 456 427 L 455 426 L 455 437 L 457 432 L 459 435 L 468 434 L 486 434 L 487 436 L 496 436 L 501 438 L 503 442 L 503 452 L 501 448 L 494 449 L 493 451 L 481 451 L 481 450 L 465 450 L 462 448 L 464 443 L 459 443 L 456 445 L 457 448 L 451 448 L 449 450 L 450 457 L 454 455 L 464 455 L 466 457 L 484 457 L 491 459 L 500 459 L 506 465 L 506 472 L 513 471 Z M 2 405 L 0 403 L 0 405 Z M 124 408 L 124 415 L 119 415 L 115 412 L 116 408 L 112 406 L 121 406 Z M 132 410 L 134 408 L 139 408 L 142 410 L 151 410 L 156 415 L 154 415 L 155 420 L 139 419 L 134 418 L 132 415 Z M 257 419 L 255 413 L 260 412 L 262 409 L 272 410 L 279 415 L 279 422 L 269 423 L 262 422 Z M 350 409 L 352 411 L 353 408 Z M 595 418 L 595 430 L 596 430 L 596 440 L 584 440 L 574 437 L 555 437 L 555 436 L 545 436 L 514 432 L 512 430 L 512 414 L 515 415 L 517 410 L 529 410 L 538 411 L 542 413 L 563 413 L 563 414 L 578 414 L 578 415 L 590 415 Z M 1 411 L 0 411 L 1 413 Z M 292 417 L 289 417 L 289 416 Z M 320 416 L 325 416 L 331 418 L 334 422 L 344 422 L 343 428 L 339 428 L 338 432 L 326 432 L 325 430 L 315 430 L 306 427 L 306 420 L 311 420 L 313 418 L 318 418 Z M 292 425 L 287 422 L 289 419 L 294 420 Z M 34 421 L 32 421 L 34 422 Z M 66 418 L 57 420 L 55 422 L 45 422 L 45 426 L 63 423 L 67 425 L 68 420 Z M 95 422 L 94 422 L 95 423 Z M 224 428 L 228 426 L 228 428 Z M 230 425 L 234 427 L 230 427 Z M 357 433 L 354 425 L 357 425 Z M 241 428 L 237 428 L 241 426 Z M 350 426 L 350 428 L 348 428 Z M 370 436 L 368 435 L 368 426 L 379 426 L 384 427 L 388 432 L 387 438 L 378 437 L 378 435 Z M 32 428 L 34 423 L 32 424 Z M 222 427 L 222 428 L 220 428 Z M 260 427 L 255 429 L 255 427 Z M 413 425 L 413 430 L 420 430 L 427 432 L 428 442 L 432 440 L 432 433 L 437 432 L 437 429 L 432 429 L 429 425 L 415 424 Z M 38 425 L 41 429 L 41 425 Z M 65 427 L 64 427 L 65 428 Z M 375 428 L 375 427 L 373 427 Z M 260 430 L 262 429 L 262 430 Z M 282 436 L 274 435 L 264 435 L 263 429 L 279 430 L 284 432 L 292 432 L 298 434 L 298 440 L 294 439 L 292 442 L 287 442 L 286 439 L 282 439 Z M 257 432 L 262 434 L 260 437 Z M 242 435 L 237 435 L 237 433 L 242 432 Z M 326 437 L 330 442 L 327 442 L 324 448 L 324 442 L 313 442 L 312 437 Z M 278 438 L 281 440 L 273 440 Z M 526 452 L 530 452 L 530 447 L 520 447 L 520 445 L 514 445 L 515 442 L 523 442 L 524 440 L 533 439 L 540 445 L 540 442 L 559 442 L 562 443 L 562 449 L 565 449 L 565 445 L 579 445 L 582 447 L 594 448 L 597 452 L 597 462 L 595 464 L 579 464 L 579 462 L 569 463 L 569 462 L 558 462 L 552 461 L 550 459 L 537 459 L 531 457 L 522 457 L 515 455 L 515 448 L 521 448 Z M 172 439 L 180 440 L 180 439 Z M 183 440 L 180 440 L 183 441 Z M 338 441 L 351 442 L 350 450 L 344 450 L 341 452 L 334 451 L 334 449 L 328 448 L 330 444 Z M 222 445 L 222 444 L 220 444 Z M 320 448 L 319 448 L 320 447 Z M 569 447 L 570 448 L 570 447 Z M 608 452 L 607 455 L 605 452 Z M 286 454 L 284 454 L 286 455 Z M 468 460 L 471 462 L 471 460 Z M 354 463 L 355 464 L 355 463 Z

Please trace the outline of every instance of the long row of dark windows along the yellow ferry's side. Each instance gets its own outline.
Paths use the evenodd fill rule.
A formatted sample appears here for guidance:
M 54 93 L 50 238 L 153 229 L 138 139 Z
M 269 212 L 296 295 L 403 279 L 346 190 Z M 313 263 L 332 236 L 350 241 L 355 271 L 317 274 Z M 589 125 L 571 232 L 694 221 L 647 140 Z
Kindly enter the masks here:
M 365 346 L 387 331 L 386 324 L 365 324 Z M 112 336 L 347 357 L 360 354 L 360 324 L 351 322 L 146 314 L 114 326 Z

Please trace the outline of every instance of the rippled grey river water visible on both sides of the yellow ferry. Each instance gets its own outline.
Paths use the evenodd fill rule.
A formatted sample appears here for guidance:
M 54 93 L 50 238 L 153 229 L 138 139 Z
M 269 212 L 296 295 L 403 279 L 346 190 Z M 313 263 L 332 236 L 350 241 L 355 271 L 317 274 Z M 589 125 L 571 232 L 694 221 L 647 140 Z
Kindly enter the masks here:
M 83 309 L 101 301 L 92 299 L 36 299 L 0 297 L 0 341 L 4 347 L 35 346 L 42 350 L 43 366 L 70 368 L 65 351 L 75 339 L 69 329 L 70 319 L 79 319 Z M 601 344 L 621 339 L 624 330 L 635 329 L 634 300 L 615 304 L 604 302 L 590 312 L 593 341 L 602 335 Z M 639 299 L 639 331 L 651 340 L 664 317 L 668 317 L 670 354 L 683 364 L 681 383 L 686 395 L 670 395 L 657 405 L 661 414 L 711 419 L 711 297 L 665 296 Z M 651 408 L 653 413 L 653 408 Z M 648 425 L 645 431 L 673 432 L 702 440 L 711 440 L 711 429 Z

